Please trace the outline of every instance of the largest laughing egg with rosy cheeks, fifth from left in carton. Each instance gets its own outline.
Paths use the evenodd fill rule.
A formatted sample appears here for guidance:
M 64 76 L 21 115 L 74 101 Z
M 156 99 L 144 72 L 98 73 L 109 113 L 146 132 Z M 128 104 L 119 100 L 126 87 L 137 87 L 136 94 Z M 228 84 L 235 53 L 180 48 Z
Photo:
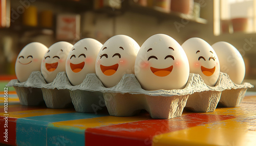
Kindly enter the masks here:
M 172 37 L 153 35 L 139 50 L 135 76 L 145 90 L 182 89 L 189 77 L 186 54 Z

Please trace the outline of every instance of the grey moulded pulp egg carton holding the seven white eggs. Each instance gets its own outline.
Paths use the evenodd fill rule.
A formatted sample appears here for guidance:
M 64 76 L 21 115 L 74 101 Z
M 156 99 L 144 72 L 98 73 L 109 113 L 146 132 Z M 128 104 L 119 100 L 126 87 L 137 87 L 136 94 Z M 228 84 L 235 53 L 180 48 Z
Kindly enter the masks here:
M 215 87 L 207 86 L 200 75 L 190 73 L 184 89 L 147 91 L 141 88 L 133 74 L 125 74 L 116 86 L 106 88 L 96 74 L 88 74 L 80 85 L 72 86 L 66 72 L 59 72 L 56 79 L 47 84 L 39 71 L 32 72 L 26 82 L 18 83 L 17 80 L 12 80 L 7 86 L 41 88 L 46 105 L 51 105 L 50 108 L 63 108 L 65 106 L 59 106 L 61 103 L 67 105 L 72 100 L 77 112 L 95 112 L 105 105 L 109 114 L 113 116 L 132 116 L 145 109 L 152 118 L 163 119 L 181 116 L 185 106 L 197 112 L 214 111 L 222 98 L 222 91 L 245 93 L 246 90 L 243 89 L 253 87 L 249 83 L 234 84 L 228 75 L 222 72 Z M 67 90 L 70 92 L 71 100 L 58 94 Z M 228 99 L 242 100 L 244 93 Z

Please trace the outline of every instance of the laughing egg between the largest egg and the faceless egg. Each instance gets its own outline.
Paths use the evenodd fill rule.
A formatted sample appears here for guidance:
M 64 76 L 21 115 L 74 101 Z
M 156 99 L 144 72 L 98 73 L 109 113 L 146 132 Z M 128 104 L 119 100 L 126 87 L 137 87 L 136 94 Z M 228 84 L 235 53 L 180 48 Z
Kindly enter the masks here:
M 220 63 L 214 49 L 201 38 L 190 38 L 181 45 L 187 55 L 190 72 L 199 74 L 208 86 L 215 86 Z

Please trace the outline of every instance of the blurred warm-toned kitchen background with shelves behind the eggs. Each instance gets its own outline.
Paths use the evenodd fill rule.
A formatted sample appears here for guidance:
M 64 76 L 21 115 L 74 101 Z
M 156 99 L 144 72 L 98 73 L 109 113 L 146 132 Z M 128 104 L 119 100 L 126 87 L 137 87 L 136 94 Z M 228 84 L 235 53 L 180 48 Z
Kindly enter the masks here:
M 123 34 L 142 45 L 158 33 L 180 44 L 191 37 L 231 43 L 244 58 L 245 81 L 256 85 L 256 0 L 0 0 L 0 76 L 15 75 L 30 42 L 103 44 Z

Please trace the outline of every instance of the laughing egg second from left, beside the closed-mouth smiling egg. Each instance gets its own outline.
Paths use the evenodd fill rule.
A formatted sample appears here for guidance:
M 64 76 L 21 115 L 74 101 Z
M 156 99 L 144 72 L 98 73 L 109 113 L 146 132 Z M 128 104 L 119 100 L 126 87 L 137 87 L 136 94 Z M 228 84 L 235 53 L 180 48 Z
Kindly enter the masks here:
M 73 45 L 69 42 L 56 42 L 49 47 L 41 62 L 41 74 L 47 83 L 53 82 L 58 72 L 66 71 L 66 59 Z

